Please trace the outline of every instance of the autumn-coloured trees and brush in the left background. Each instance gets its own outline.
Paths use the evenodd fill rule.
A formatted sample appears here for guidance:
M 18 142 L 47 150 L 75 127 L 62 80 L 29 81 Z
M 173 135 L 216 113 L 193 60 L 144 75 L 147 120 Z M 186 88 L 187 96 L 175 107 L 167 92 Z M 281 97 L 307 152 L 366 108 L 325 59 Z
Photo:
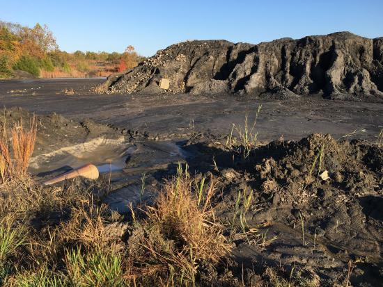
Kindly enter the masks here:
M 144 57 L 134 47 L 123 53 L 104 51 L 61 51 L 47 25 L 33 28 L 0 21 L 0 78 L 12 77 L 17 70 L 33 76 L 107 76 L 132 69 Z

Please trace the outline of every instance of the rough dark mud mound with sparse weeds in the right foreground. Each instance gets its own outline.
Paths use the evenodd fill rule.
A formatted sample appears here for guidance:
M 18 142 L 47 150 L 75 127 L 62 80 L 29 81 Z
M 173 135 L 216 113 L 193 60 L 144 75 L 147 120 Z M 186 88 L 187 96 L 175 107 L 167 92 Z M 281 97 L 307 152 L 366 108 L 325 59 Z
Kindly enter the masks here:
M 196 172 L 219 181 L 220 220 L 272 239 L 238 240 L 237 262 L 259 272 L 290 266 L 287 276 L 292 268 L 314 272 L 320 286 L 341 284 L 351 262 L 352 286 L 382 286 L 382 148 L 314 134 L 271 142 L 248 158 L 213 142 L 186 149 L 200 155 L 190 162 Z

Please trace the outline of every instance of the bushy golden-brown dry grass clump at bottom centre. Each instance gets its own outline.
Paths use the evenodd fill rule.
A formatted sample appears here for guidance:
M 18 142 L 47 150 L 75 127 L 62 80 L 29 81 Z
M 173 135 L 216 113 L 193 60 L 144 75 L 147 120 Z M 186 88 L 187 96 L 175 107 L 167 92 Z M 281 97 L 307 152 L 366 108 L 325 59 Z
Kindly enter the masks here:
M 128 277 L 166 286 L 194 285 L 202 265 L 214 266 L 230 251 L 211 206 L 214 183 L 200 196 L 187 172 L 166 182 L 148 218 L 130 243 Z M 133 246 L 133 243 L 135 247 Z

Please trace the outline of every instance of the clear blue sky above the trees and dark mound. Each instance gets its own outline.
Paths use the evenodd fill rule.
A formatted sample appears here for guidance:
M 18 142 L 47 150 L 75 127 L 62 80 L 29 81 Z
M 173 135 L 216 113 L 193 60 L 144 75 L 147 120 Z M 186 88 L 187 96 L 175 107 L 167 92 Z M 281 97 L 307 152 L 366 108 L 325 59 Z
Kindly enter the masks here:
M 383 36 L 383 0 L 0 0 L 0 19 L 47 24 L 64 51 L 124 51 L 151 56 L 175 42 L 226 39 L 258 43 L 350 31 Z

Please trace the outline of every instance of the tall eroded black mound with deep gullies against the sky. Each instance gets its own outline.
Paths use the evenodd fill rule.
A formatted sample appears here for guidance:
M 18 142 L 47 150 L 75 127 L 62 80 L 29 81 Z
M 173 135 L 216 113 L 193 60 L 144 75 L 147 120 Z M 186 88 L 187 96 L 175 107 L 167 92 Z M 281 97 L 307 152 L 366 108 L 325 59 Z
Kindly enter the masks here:
M 160 50 L 125 74 L 110 76 L 109 92 L 323 94 L 331 99 L 383 96 L 383 38 L 348 32 L 283 38 L 260 44 L 190 41 Z

